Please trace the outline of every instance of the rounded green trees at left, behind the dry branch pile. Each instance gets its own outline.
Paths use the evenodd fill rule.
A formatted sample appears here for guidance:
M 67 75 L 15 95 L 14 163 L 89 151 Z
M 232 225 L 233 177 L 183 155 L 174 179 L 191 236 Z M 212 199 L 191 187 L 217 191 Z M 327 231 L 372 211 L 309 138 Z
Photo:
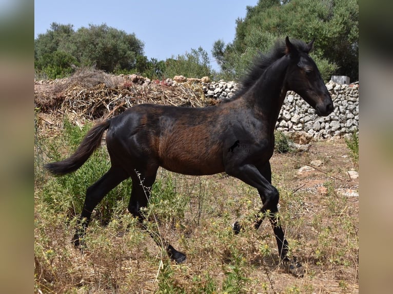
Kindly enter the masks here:
M 99 70 L 137 71 L 144 68 L 143 42 L 135 34 L 106 24 L 76 32 L 72 25 L 53 23 L 34 40 L 34 67 L 49 78 L 64 77 L 74 66 L 95 66 Z

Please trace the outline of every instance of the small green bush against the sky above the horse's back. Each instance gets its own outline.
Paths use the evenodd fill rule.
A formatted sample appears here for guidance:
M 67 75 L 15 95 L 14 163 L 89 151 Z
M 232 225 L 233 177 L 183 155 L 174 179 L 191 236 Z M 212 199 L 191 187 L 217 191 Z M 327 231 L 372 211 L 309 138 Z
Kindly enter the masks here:
M 211 76 L 212 73 L 209 64 L 209 55 L 202 47 L 199 47 L 198 50 L 191 49 L 191 52 L 168 58 L 165 61 L 163 75 L 171 78 L 175 75 L 195 78 Z

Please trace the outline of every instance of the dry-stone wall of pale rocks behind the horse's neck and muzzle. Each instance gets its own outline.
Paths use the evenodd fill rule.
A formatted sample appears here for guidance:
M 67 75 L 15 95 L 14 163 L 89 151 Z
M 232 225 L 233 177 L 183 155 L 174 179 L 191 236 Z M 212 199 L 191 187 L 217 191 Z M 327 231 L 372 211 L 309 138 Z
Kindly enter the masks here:
M 283 132 L 305 131 L 314 138 L 346 137 L 359 128 L 359 84 L 351 85 L 329 81 L 326 87 L 335 110 L 329 116 L 320 117 L 298 94 L 288 92 L 280 111 L 276 129 Z M 206 97 L 224 99 L 233 95 L 237 85 L 233 82 L 205 83 Z

